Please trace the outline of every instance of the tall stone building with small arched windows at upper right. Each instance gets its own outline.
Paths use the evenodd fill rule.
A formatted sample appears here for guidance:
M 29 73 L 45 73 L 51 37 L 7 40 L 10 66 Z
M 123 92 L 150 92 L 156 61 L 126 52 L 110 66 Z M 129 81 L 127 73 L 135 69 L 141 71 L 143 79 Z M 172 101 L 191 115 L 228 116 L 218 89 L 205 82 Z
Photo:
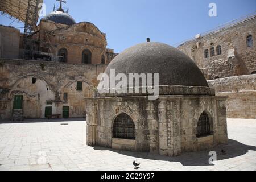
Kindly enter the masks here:
M 256 72 L 256 15 L 181 44 L 208 80 Z

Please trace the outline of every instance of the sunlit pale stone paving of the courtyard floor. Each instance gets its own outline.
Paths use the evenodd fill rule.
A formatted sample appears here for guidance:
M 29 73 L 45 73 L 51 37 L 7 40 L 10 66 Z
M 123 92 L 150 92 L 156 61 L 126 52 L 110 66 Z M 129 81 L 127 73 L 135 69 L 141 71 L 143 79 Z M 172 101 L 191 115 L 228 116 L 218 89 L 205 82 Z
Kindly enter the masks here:
M 256 170 L 256 119 L 228 119 L 229 144 L 166 157 L 86 146 L 83 119 L 27 120 L 0 124 L 0 170 Z M 68 124 L 68 125 L 63 125 Z M 226 154 L 221 154 L 221 149 Z

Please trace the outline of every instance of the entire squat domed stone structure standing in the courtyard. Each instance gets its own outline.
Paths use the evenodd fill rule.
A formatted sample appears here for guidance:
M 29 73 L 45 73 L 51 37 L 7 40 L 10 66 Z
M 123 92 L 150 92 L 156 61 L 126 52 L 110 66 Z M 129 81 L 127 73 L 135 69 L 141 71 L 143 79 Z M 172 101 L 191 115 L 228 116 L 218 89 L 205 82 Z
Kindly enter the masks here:
M 153 85 L 159 96 L 150 100 L 149 92 L 110 93 L 115 89 L 111 84 L 102 88 L 109 93 L 96 92 L 86 100 L 88 145 L 177 156 L 228 142 L 226 97 L 215 96 L 184 53 L 162 43 L 138 44 L 113 59 L 105 71 L 109 78 L 113 69 L 127 77 L 159 73 Z

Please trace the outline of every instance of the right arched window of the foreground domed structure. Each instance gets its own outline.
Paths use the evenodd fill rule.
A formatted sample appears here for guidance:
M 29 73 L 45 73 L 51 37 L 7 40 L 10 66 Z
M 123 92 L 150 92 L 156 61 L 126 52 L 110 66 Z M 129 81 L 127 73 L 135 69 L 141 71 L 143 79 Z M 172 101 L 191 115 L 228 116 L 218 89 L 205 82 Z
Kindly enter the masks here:
M 205 137 L 212 135 L 212 118 L 209 118 L 209 115 L 204 111 L 199 118 L 197 124 L 197 137 Z

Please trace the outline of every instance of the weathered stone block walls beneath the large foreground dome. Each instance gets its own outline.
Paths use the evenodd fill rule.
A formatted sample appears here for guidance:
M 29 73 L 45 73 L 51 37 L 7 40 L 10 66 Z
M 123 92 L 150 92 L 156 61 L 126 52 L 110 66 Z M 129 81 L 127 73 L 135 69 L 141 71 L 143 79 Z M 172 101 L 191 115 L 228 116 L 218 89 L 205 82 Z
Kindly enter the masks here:
M 158 101 L 143 96 L 91 98 L 87 100 L 86 143 L 166 156 L 226 144 L 225 100 L 216 96 L 159 96 Z M 204 111 L 212 119 L 213 134 L 197 138 L 197 123 Z M 114 119 L 121 113 L 135 125 L 136 139 L 130 144 L 113 138 Z

